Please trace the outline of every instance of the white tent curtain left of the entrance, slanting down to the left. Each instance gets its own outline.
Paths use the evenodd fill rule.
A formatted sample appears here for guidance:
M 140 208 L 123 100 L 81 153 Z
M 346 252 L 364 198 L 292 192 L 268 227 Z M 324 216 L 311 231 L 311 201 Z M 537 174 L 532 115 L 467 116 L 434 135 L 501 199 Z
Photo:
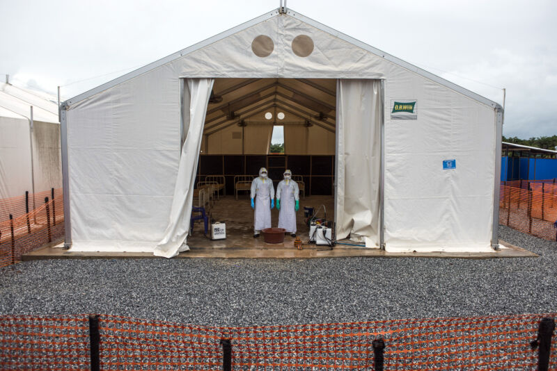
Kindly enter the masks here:
M 180 252 L 189 250 L 186 245 L 186 237 L 189 231 L 191 206 L 194 201 L 196 169 L 201 150 L 203 125 L 213 83 L 214 79 L 186 79 L 184 84 L 183 95 L 189 97 L 189 101 L 183 101 L 182 108 L 185 113 L 183 129 L 187 135 L 180 155 L 168 226 L 164 231 L 164 237 L 155 247 L 156 256 L 172 258 Z

